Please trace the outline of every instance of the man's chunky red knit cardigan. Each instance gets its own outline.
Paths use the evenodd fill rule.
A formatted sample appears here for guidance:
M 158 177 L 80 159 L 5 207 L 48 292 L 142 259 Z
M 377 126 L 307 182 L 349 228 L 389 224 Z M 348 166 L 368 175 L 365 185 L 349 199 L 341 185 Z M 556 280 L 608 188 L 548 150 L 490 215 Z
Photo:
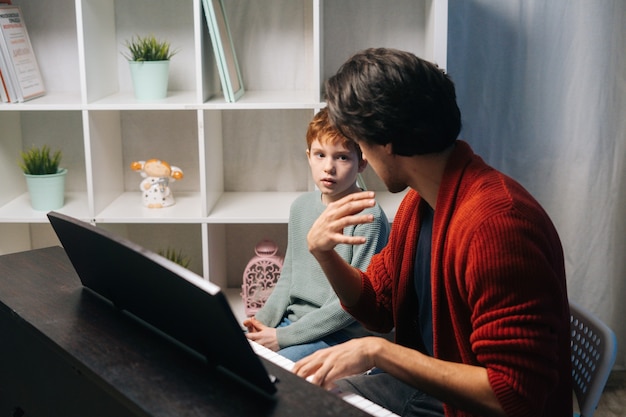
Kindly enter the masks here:
M 387 247 L 362 273 L 359 302 L 347 311 L 371 330 L 395 328 L 397 343 L 424 351 L 413 286 L 420 203 L 410 190 Z M 509 417 L 571 417 L 563 250 L 539 203 L 458 141 L 432 239 L 434 356 L 487 368 Z M 471 415 L 448 405 L 445 411 Z

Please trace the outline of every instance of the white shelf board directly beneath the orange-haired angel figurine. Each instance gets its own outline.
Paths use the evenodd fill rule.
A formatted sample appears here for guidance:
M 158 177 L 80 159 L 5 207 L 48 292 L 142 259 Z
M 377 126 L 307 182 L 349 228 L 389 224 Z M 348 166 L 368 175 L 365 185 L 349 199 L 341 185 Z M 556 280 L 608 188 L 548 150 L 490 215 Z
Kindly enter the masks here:
M 126 192 L 95 216 L 101 223 L 202 223 L 200 194 L 174 192 L 176 204 L 164 208 L 147 208 L 141 193 Z

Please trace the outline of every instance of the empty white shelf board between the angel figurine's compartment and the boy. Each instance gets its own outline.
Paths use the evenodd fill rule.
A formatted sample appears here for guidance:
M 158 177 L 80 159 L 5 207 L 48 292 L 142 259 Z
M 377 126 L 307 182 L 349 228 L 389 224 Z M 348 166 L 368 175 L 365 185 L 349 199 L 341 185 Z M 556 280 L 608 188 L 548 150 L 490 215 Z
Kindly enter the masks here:
M 289 207 L 301 192 L 224 193 L 209 213 L 209 223 L 287 223 Z

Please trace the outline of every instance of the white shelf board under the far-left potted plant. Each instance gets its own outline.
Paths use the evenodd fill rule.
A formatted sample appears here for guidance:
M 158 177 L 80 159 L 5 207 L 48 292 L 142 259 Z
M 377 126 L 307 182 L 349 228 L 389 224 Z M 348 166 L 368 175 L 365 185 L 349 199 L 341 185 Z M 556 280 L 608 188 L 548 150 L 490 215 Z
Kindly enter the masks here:
M 86 193 L 66 191 L 65 205 L 55 211 L 89 220 Z M 0 207 L 0 223 L 48 223 L 46 213 L 47 211 L 33 210 L 28 193 L 24 193 Z

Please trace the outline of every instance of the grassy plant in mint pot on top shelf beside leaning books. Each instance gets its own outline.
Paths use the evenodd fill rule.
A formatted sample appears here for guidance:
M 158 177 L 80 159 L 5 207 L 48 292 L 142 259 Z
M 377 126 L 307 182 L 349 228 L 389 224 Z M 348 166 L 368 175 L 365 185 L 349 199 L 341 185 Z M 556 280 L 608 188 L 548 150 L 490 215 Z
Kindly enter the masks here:
M 167 97 L 170 58 L 178 51 L 154 35 L 135 35 L 125 43 L 137 100 L 159 100 Z

